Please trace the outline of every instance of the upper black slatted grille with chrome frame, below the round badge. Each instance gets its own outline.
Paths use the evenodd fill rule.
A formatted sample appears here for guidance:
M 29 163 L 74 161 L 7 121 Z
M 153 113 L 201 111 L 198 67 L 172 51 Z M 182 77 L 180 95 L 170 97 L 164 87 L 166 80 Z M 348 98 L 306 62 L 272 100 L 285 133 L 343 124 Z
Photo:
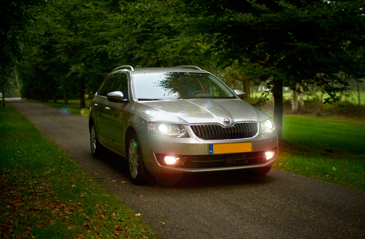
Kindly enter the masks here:
M 253 138 L 258 133 L 258 123 L 238 123 L 224 128 L 220 125 L 190 125 L 197 137 L 203 140 L 227 140 Z

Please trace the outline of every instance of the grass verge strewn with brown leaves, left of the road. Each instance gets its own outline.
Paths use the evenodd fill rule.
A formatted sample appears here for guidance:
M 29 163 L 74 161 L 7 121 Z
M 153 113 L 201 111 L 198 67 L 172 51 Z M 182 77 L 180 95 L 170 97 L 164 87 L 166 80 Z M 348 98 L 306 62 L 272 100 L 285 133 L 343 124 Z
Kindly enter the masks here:
M 0 135 L 1 238 L 156 238 L 9 104 Z

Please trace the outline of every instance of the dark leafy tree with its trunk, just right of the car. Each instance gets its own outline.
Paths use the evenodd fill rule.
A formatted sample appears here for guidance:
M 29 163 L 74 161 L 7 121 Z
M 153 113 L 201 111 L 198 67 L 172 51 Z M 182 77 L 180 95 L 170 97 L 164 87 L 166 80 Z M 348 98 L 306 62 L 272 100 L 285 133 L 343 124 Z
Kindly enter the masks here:
M 215 38 L 219 56 L 261 65 L 274 95 L 274 121 L 282 139 L 283 86 L 322 86 L 331 98 L 345 90 L 339 71 L 353 73 L 351 54 L 365 43 L 363 1 L 188 0 L 197 27 Z M 364 68 L 362 66 L 362 68 Z

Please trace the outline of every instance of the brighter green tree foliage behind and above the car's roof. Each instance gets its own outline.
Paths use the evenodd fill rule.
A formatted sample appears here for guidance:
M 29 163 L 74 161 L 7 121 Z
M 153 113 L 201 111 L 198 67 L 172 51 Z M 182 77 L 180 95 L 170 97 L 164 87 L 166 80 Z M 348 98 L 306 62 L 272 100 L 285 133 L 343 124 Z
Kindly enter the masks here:
M 211 68 L 209 46 L 201 34 L 190 35 L 194 19 L 182 7 L 157 0 L 47 1 L 24 34 L 32 61 L 18 66 L 23 96 L 47 101 L 62 93 L 92 95 L 105 73 L 120 65 Z

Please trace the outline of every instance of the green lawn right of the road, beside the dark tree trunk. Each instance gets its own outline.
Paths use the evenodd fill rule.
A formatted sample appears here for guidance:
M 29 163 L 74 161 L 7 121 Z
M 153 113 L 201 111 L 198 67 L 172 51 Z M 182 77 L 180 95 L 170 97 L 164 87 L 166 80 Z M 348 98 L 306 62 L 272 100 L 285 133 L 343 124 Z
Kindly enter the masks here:
M 284 115 L 275 168 L 365 191 L 365 122 Z

